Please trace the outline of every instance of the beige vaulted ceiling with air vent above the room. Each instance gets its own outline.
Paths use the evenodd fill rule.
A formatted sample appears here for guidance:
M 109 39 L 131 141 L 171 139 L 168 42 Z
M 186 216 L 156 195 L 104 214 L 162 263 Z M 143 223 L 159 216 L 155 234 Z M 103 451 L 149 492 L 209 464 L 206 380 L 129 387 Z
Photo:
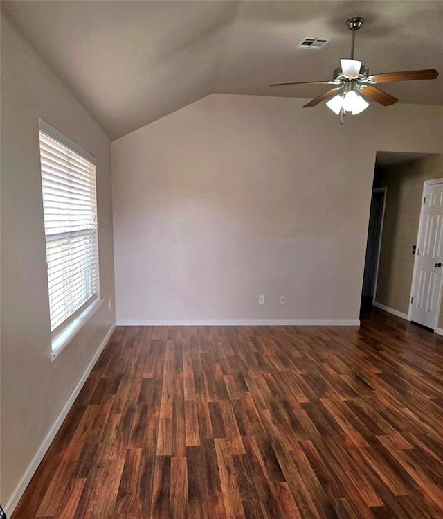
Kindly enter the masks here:
M 350 53 L 370 73 L 436 68 L 383 85 L 402 103 L 443 105 L 443 1 L 2 1 L 71 91 L 117 138 L 212 93 L 314 98 Z M 298 49 L 303 37 L 331 41 Z M 325 109 L 319 105 L 311 109 Z M 386 108 L 389 109 L 389 108 Z

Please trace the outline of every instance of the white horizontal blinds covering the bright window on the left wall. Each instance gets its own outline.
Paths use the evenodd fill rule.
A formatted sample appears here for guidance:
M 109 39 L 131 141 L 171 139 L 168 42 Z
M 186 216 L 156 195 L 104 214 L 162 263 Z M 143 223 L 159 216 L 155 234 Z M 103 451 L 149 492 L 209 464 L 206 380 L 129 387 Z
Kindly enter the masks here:
M 98 298 L 96 166 L 88 152 L 45 121 L 40 121 L 39 141 L 55 335 Z

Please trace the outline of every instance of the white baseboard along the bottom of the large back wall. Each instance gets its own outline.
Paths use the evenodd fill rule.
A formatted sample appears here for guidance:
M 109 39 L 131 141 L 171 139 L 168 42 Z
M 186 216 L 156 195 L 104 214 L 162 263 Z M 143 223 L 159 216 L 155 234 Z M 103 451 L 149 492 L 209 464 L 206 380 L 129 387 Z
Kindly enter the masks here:
M 118 326 L 360 326 L 359 319 L 117 319 Z

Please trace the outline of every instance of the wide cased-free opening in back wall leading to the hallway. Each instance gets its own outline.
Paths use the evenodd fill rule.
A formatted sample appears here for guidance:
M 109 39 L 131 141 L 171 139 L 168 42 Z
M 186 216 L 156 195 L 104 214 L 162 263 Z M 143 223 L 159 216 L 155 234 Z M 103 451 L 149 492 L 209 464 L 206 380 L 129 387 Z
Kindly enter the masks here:
M 381 308 L 401 319 L 424 322 L 420 317 L 411 316 L 411 307 L 417 304 L 426 314 L 425 326 L 430 326 L 443 335 L 443 330 L 435 328 L 440 312 L 440 280 L 443 285 L 443 260 L 435 260 L 432 265 L 418 269 L 415 260 L 421 257 L 423 245 L 417 241 L 417 233 L 424 224 L 420 223 L 420 214 L 424 202 L 424 184 L 442 184 L 442 179 L 435 179 L 442 173 L 442 155 L 413 152 L 377 152 L 374 168 L 375 193 L 372 193 L 370 219 L 368 225 L 368 249 L 366 251 L 364 276 L 362 283 L 361 310 L 370 310 L 372 306 Z M 432 181 L 432 182 L 431 182 Z M 381 202 L 377 191 L 385 190 L 385 200 L 381 218 Z M 437 189 L 437 188 L 435 188 Z M 381 197 L 381 195 L 378 195 Z M 433 204 L 440 205 L 442 213 L 433 215 L 428 222 L 428 247 L 443 248 L 443 191 L 433 195 Z M 428 197 L 428 202 L 430 198 Z M 438 202 L 437 202 L 438 200 Z M 431 213 L 429 217 L 431 218 Z M 432 223 L 432 225 L 431 225 Z M 420 227 L 421 226 L 421 227 Z M 382 229 L 379 229 L 382 227 Z M 381 238 L 381 233 L 383 237 Z M 422 233 L 426 236 L 426 226 Z M 379 238 L 379 239 L 377 239 Z M 431 240 L 432 238 L 432 240 Z M 432 246 L 431 246 L 432 242 Z M 379 245 L 377 250 L 377 245 Z M 416 254 L 419 249 L 419 254 Z M 435 256 L 430 252 L 429 261 Z M 437 257 L 440 252 L 438 252 Z M 442 263 L 442 267 L 435 266 Z M 376 272 L 374 272 L 374 269 Z M 415 286 L 414 282 L 421 284 Z M 417 276 L 415 275 L 417 272 Z M 440 276 L 439 272 L 442 272 Z M 415 293 L 414 293 L 415 292 Z M 416 299 L 416 298 L 419 299 Z M 412 299 L 415 298 L 415 299 Z M 411 299 L 413 302 L 411 302 Z M 372 300 L 372 301 L 371 301 Z M 431 311 L 432 309 L 432 311 Z M 416 309 L 418 310 L 418 308 Z M 432 317 L 428 317 L 430 312 Z M 430 321 L 432 324 L 430 325 Z

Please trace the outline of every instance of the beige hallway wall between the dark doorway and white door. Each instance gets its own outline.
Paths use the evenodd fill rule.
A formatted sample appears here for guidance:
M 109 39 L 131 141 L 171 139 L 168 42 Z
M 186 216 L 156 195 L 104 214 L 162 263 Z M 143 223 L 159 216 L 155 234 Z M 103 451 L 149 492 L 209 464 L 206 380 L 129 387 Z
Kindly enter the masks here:
M 425 180 L 443 178 L 443 155 L 383 168 L 374 186 L 387 188 L 376 300 L 408 313 Z

